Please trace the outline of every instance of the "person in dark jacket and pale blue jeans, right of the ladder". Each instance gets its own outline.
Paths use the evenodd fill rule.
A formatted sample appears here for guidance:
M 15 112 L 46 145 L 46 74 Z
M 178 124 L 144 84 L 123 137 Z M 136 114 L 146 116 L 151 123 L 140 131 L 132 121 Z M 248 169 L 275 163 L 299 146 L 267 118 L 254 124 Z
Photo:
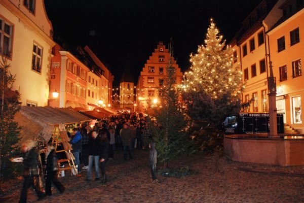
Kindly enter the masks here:
M 89 149 L 89 167 L 87 171 L 87 180 L 91 180 L 93 171 L 93 162 L 95 164 L 95 181 L 99 180 L 99 154 L 101 150 L 101 140 L 95 130 L 88 143 Z

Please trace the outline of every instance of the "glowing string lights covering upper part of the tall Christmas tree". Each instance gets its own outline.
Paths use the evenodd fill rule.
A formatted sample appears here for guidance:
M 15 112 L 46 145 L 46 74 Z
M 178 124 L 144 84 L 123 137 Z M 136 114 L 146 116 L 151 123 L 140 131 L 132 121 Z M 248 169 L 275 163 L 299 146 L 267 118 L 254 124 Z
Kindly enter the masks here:
M 225 45 L 223 36 L 211 19 L 207 29 L 205 44 L 198 47 L 196 54 L 190 55 L 191 70 L 185 72 L 182 88 L 184 91 L 199 91 L 203 88 L 211 98 L 223 94 L 238 96 L 242 72 L 233 67 L 233 49 Z

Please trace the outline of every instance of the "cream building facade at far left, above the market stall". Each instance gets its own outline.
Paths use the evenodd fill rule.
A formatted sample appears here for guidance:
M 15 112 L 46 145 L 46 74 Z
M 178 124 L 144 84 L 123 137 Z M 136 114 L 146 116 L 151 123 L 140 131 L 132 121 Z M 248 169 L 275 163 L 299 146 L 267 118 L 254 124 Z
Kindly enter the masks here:
M 43 0 L 0 1 L 0 54 L 16 74 L 22 105 L 48 105 L 52 35 Z

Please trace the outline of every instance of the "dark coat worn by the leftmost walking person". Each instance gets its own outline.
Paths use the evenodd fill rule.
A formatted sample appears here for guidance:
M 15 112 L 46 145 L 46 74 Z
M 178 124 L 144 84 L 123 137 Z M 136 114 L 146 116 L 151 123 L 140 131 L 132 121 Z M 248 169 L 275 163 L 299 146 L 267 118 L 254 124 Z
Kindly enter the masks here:
M 23 160 L 24 176 L 39 176 L 38 156 L 39 154 L 36 152 L 36 148 L 32 148 L 25 153 Z

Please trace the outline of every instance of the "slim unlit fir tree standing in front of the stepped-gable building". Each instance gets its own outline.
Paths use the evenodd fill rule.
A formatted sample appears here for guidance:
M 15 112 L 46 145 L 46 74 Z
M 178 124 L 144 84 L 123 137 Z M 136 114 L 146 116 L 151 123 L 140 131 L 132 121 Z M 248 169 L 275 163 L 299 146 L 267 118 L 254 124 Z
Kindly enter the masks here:
M 158 162 L 163 163 L 164 168 L 168 167 L 169 161 L 185 154 L 191 145 L 187 134 L 189 119 L 179 101 L 181 92 L 174 87 L 176 68 L 172 66 L 172 61 L 171 55 L 166 67 L 164 87 L 158 91 L 161 105 L 155 108 L 153 116 L 156 122 L 148 119 L 158 150 Z

